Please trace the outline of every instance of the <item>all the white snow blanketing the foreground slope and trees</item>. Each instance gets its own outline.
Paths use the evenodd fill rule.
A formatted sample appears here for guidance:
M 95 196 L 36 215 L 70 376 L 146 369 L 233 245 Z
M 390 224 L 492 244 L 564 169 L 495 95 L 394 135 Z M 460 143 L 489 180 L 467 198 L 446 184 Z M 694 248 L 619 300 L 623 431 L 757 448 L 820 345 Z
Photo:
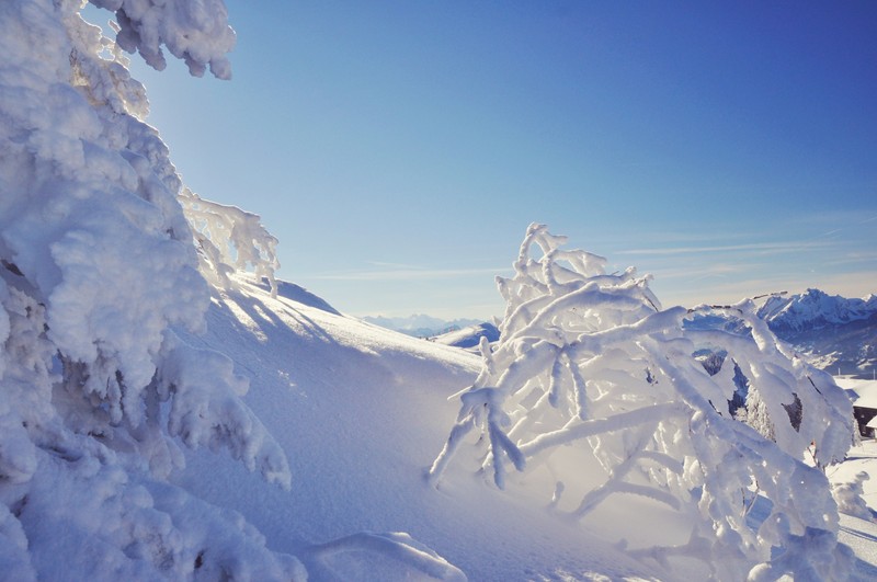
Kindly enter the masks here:
M 874 445 L 830 465 L 850 403 L 751 304 L 749 336 L 685 331 L 534 225 L 496 352 L 346 317 L 144 123 L 122 52 L 228 78 L 223 2 L 92 3 L 115 41 L 79 1 L 0 3 L 4 579 L 873 578 Z M 710 404 L 734 386 L 702 343 L 761 383 L 776 443 Z

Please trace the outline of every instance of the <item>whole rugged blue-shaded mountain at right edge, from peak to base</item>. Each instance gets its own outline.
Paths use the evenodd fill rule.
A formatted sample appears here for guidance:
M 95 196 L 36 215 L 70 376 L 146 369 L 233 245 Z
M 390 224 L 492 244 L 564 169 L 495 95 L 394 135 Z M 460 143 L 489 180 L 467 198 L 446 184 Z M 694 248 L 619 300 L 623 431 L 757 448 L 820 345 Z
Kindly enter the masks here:
M 759 310 L 771 330 L 818 367 L 872 377 L 877 367 L 877 296 L 863 299 L 819 289 L 771 297 Z

